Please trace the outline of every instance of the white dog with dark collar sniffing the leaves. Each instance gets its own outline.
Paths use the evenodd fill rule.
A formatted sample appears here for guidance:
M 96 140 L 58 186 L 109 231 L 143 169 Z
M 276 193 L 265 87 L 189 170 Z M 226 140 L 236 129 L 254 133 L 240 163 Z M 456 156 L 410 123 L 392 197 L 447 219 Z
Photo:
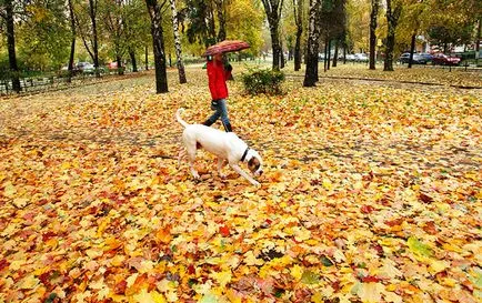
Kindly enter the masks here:
M 202 148 L 218 156 L 218 172 L 221 178 L 224 178 L 221 173 L 221 169 L 224 162 L 228 161 L 229 165 L 234 171 L 244 176 L 253 185 L 260 185 L 258 181 L 251 178 L 238 165 L 239 162 L 247 162 L 249 170 L 254 175 L 261 175 L 263 173 L 261 168 L 262 160 L 257 151 L 250 149 L 244 141 L 239 139 L 238 135 L 232 132 L 223 132 L 202 124 L 188 124 L 181 118 L 182 112 L 183 109 L 179 109 L 175 113 L 178 122 L 184 127 L 184 131 L 182 132 L 182 142 L 185 150 L 182 149 L 179 153 L 179 164 L 181 163 L 181 159 L 184 158 L 185 152 L 188 152 L 189 166 L 192 176 L 199 179 L 199 173 L 194 169 L 194 160 L 197 150 Z

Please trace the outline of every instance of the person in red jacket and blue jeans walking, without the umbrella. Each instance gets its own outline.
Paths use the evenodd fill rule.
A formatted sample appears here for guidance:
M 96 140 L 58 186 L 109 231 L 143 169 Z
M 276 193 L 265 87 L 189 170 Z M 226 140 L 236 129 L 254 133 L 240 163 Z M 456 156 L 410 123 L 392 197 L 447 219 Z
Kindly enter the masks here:
M 214 122 L 221 118 L 222 125 L 227 132 L 232 132 L 231 122 L 228 117 L 227 98 L 228 85 L 225 81 L 231 77 L 232 67 L 227 64 L 222 53 L 215 53 L 212 58 L 208 57 L 207 63 L 209 90 L 211 92 L 211 110 L 214 113 L 204 121 L 204 125 L 211 127 Z

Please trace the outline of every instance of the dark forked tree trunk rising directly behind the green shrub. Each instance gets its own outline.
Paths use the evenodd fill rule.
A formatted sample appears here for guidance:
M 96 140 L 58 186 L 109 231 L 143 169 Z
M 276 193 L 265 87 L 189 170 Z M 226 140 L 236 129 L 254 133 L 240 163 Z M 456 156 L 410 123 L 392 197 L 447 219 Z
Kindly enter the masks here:
M 264 11 L 270 26 L 271 46 L 273 49 L 273 70 L 280 70 L 280 59 L 282 55 L 280 44 L 279 24 L 283 10 L 283 0 L 262 0 Z

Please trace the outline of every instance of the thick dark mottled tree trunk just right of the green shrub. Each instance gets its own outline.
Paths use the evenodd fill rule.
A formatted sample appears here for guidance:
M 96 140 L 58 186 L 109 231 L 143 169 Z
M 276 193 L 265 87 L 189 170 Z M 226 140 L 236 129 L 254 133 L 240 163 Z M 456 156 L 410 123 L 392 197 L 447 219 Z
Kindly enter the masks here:
M 304 73 L 303 87 L 315 87 L 318 81 L 318 49 L 320 40 L 320 29 L 318 17 L 320 13 L 321 0 L 310 0 L 310 16 L 308 24 L 308 48 L 307 48 L 307 69 Z

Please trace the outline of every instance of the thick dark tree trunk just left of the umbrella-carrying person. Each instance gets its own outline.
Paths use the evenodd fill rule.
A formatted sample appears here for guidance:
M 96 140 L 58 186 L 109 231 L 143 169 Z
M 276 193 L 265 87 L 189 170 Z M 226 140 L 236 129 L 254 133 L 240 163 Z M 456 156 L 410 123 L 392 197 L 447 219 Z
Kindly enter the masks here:
M 151 34 L 152 44 L 154 50 L 154 64 L 155 64 L 155 92 L 168 92 L 168 74 L 165 67 L 165 52 L 164 52 L 164 37 L 162 34 L 162 4 L 158 0 L 145 0 L 148 11 L 151 18 Z

